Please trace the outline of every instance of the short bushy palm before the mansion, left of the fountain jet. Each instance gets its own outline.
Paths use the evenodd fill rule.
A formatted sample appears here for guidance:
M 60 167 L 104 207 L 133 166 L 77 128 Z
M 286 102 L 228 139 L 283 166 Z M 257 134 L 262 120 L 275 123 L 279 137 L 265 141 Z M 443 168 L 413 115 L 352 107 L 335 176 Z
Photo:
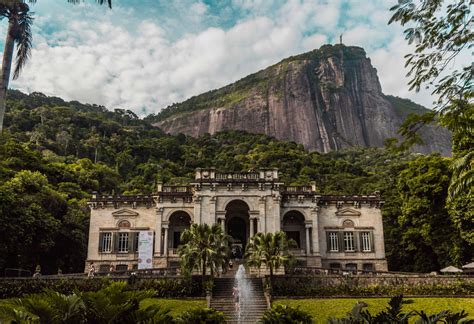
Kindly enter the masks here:
M 215 224 L 193 224 L 191 228 L 181 234 L 181 245 L 178 254 L 181 258 L 181 268 L 190 273 L 194 269 L 202 271 L 203 279 L 206 269 L 209 268 L 211 276 L 224 267 L 229 254 L 229 236 L 222 228 Z

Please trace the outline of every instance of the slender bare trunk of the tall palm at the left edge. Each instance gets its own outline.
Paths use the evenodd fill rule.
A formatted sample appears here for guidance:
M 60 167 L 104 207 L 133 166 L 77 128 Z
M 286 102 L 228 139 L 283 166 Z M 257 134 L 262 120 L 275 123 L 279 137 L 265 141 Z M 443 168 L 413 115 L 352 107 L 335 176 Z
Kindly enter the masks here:
M 15 47 L 13 33 L 17 27 L 17 20 L 10 18 L 8 21 L 7 39 L 3 50 L 2 76 L 0 79 L 0 135 L 3 132 L 3 118 L 7 103 L 7 89 L 10 82 L 10 71 L 12 69 L 13 49 Z

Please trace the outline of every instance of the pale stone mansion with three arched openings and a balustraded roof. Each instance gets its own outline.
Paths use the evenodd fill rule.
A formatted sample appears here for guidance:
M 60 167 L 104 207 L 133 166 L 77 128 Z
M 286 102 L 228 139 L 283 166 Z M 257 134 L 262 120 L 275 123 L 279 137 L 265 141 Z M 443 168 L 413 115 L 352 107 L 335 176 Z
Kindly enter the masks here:
M 191 224 L 219 224 L 237 256 L 257 232 L 284 231 L 293 254 L 309 267 L 386 271 L 378 195 L 319 195 L 316 186 L 285 186 L 278 170 L 219 173 L 197 169 L 188 186 L 158 184 L 150 196 L 94 194 L 86 263 L 107 271 L 138 266 L 138 233 L 153 234 L 153 268 L 177 266 L 181 233 Z

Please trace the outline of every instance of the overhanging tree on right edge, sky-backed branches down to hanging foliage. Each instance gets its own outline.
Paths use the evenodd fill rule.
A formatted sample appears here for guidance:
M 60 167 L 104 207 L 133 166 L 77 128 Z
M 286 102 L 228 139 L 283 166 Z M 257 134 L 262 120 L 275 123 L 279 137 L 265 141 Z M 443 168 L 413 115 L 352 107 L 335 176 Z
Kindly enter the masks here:
M 394 11 L 389 24 L 399 22 L 405 29 L 409 44 L 415 43 L 415 52 L 406 55 L 406 66 L 410 89 L 419 91 L 424 85 L 433 88 L 437 96 L 436 114 L 412 118 L 405 124 L 402 134 L 416 136 L 426 123 L 439 121 L 453 132 L 452 169 L 454 170 L 449 189 L 452 200 L 461 192 L 472 193 L 474 182 L 474 160 L 469 154 L 474 145 L 474 106 L 472 104 L 473 69 L 467 59 L 460 69 L 450 69 L 456 57 L 470 54 L 474 32 L 469 0 L 399 0 L 390 9 Z M 461 138 L 464 144 L 459 147 Z M 467 144 L 467 145 L 466 145 Z M 471 195 L 472 196 L 472 195 Z

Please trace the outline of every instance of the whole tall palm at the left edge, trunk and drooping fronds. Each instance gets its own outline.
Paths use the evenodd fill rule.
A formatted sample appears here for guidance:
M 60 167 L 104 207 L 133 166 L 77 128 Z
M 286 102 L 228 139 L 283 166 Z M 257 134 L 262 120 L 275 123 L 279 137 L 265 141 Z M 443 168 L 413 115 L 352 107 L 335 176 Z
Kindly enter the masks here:
M 3 50 L 2 74 L 0 77 L 0 135 L 3 131 L 3 118 L 6 110 L 6 97 L 8 84 L 10 82 L 10 72 L 13 62 L 13 51 L 17 46 L 15 70 L 13 79 L 18 78 L 21 69 L 25 66 L 31 53 L 32 33 L 31 25 L 33 17 L 30 13 L 28 3 L 36 0 L 1 0 L 0 20 L 8 19 L 8 31 Z M 79 3 L 81 0 L 68 0 L 71 3 Z M 107 3 L 112 8 L 112 0 L 97 0 L 99 4 Z

